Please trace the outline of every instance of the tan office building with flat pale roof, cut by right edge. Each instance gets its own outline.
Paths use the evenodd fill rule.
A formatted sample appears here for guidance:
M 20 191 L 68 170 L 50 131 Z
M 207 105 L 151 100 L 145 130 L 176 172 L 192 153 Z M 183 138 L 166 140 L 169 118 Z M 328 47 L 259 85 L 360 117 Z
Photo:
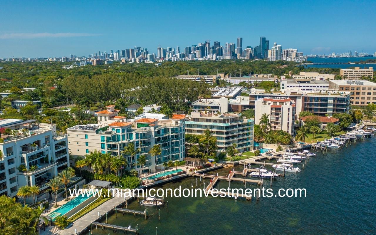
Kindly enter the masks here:
M 367 80 L 333 80 L 329 81 L 329 89 L 339 90 L 340 92 L 351 92 L 351 105 L 364 106 L 369 103 L 376 104 L 376 83 L 374 82 Z

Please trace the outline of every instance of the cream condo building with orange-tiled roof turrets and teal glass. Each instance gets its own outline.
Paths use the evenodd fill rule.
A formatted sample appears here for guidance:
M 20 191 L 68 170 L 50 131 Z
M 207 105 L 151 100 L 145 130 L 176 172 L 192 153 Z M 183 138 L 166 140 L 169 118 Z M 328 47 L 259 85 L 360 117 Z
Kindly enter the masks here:
M 106 106 L 106 110 L 96 112 L 98 124 L 76 125 L 67 129 L 69 150 L 73 155 L 85 156 L 94 150 L 121 155 L 129 143 L 133 143 L 135 150 L 140 149 L 132 159 L 127 159 L 128 169 L 135 168 L 140 155 L 147 155 L 144 172 L 154 172 L 163 169 L 165 161 L 182 161 L 185 157 L 185 115 L 175 114 L 171 119 L 162 114 L 144 113 L 132 120 L 117 116 L 118 110 L 113 105 Z M 160 156 L 151 156 L 149 150 L 156 144 L 162 149 Z

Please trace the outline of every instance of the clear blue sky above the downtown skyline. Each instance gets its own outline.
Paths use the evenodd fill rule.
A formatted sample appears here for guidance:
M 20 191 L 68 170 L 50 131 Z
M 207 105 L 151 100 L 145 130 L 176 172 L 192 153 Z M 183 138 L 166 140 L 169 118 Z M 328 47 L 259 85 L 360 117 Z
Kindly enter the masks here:
M 0 58 L 87 56 L 134 46 L 156 52 L 204 42 L 304 54 L 376 52 L 376 1 L 2 1 Z

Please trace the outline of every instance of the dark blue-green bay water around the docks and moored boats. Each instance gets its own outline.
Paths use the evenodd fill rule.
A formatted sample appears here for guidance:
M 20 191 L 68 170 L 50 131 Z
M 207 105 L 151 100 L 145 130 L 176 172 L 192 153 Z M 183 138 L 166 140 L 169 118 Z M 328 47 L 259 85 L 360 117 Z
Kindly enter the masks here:
M 314 151 L 313 151 L 314 152 Z M 132 214 L 109 215 L 108 223 L 120 226 L 139 224 L 140 234 L 155 235 L 212 235 L 212 234 L 304 234 L 304 235 L 355 235 L 376 234 L 376 207 L 374 165 L 376 138 L 356 141 L 356 144 L 327 154 L 317 153 L 310 158 L 300 173 L 286 173 L 286 177 L 273 180 L 271 188 L 305 188 L 307 197 L 270 197 L 256 200 L 233 200 L 214 197 L 166 197 L 168 210 L 161 207 L 161 221 L 158 209 L 149 207 L 150 217 Z M 268 161 L 267 161 L 268 162 Z M 275 162 L 275 161 L 272 161 Z M 253 166 L 255 167 L 255 166 Z M 302 164 L 297 164 L 302 168 Z M 267 166 L 268 170 L 272 168 Z M 241 170 L 242 167 L 235 167 Z M 215 171 L 227 175 L 229 168 Z M 165 188 L 191 188 L 191 184 L 203 187 L 199 178 L 188 177 L 168 183 Z M 209 179 L 205 179 L 208 181 Z M 270 188 L 265 180 L 265 188 Z M 206 185 L 208 182 L 205 182 Z M 227 188 L 229 183 L 220 180 L 219 187 Z M 247 188 L 257 186 L 247 183 Z M 244 188 L 244 183 L 231 182 L 231 188 Z M 143 211 L 146 207 L 131 202 L 128 209 Z M 105 218 L 102 220 L 105 223 Z M 94 229 L 95 235 L 123 235 L 111 229 Z M 88 232 L 86 233 L 86 235 Z

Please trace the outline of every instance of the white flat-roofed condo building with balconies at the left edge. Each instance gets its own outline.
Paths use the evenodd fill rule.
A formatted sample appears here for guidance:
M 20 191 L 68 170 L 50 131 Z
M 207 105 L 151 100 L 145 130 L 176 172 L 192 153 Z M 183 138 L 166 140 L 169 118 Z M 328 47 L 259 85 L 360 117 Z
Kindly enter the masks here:
M 38 120 L 2 119 L 0 127 L 12 130 L 0 138 L 0 195 L 14 197 L 20 186 L 37 185 L 38 200 L 47 197 L 48 180 L 68 166 L 67 135 Z

